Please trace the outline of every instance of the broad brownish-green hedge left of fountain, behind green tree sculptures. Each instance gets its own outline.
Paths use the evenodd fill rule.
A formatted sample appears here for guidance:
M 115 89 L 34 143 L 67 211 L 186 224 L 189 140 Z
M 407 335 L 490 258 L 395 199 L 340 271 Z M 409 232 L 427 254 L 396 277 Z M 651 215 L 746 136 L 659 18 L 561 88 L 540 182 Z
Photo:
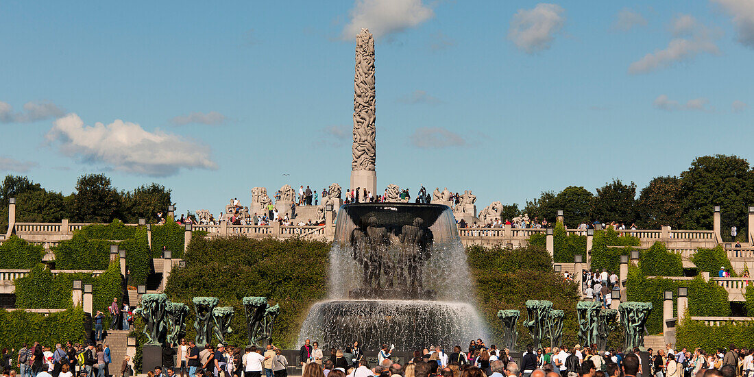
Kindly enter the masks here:
M 244 236 L 196 238 L 189 245 L 185 268 L 173 268 L 165 293 L 173 302 L 193 308 L 195 296 L 214 296 L 220 306 L 233 306 L 234 332 L 231 344 L 247 344 L 244 329 L 244 296 L 264 296 L 282 310 L 275 321 L 273 338 L 281 347 L 295 344 L 301 323 L 314 302 L 327 293 L 329 243 L 272 238 L 254 240 Z M 189 311 L 186 323 L 193 323 Z M 187 338 L 195 336 L 186 326 Z

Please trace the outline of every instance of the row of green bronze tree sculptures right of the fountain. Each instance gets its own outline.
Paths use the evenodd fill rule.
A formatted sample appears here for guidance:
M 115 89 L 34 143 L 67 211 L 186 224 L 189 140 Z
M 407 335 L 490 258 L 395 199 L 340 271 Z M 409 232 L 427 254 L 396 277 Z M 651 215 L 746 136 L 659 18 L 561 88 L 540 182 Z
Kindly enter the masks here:
M 633 349 L 644 344 L 645 324 L 652 310 L 651 302 L 622 302 L 615 309 L 603 309 L 599 302 L 580 301 L 576 304 L 578 319 L 578 338 L 583 345 L 596 345 L 600 351 L 607 348 L 607 339 L 612 330 L 617 328 L 615 320 L 621 314 L 624 326 L 624 349 Z M 527 319 L 523 326 L 532 336 L 532 347 L 541 348 L 544 339 L 550 344 L 560 345 L 565 311 L 553 310 L 550 301 L 526 301 Z M 513 351 L 516 347 L 518 330 L 516 322 L 520 317 L 517 310 L 498 311 L 498 318 L 503 325 L 503 348 Z

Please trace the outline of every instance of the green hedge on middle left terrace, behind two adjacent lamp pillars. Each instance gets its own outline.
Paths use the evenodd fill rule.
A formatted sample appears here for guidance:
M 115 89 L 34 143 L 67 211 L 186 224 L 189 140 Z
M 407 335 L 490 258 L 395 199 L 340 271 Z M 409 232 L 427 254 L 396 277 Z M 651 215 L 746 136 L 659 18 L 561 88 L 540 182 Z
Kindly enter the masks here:
M 99 277 L 92 274 L 57 274 L 43 264 L 38 264 L 25 277 L 15 280 L 16 307 L 26 309 L 66 309 L 73 307 L 73 280 L 93 284 L 92 307 L 94 311 L 106 310 L 113 297 L 121 297 L 121 268 L 112 262 Z

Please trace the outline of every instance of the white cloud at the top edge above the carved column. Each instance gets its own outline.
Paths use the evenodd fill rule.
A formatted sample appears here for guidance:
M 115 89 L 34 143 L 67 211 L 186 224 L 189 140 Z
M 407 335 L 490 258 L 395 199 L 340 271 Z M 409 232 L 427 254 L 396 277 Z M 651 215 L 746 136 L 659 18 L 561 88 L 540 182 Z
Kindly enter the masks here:
M 379 38 L 418 26 L 432 17 L 434 11 L 421 0 L 356 0 L 342 38 L 352 41 L 362 28 Z

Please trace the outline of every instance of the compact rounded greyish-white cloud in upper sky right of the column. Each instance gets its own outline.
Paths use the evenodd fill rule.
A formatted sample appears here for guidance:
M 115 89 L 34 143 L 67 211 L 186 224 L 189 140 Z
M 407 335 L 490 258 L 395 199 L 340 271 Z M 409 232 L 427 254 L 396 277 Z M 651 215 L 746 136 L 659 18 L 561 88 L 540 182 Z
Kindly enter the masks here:
M 527 54 L 547 50 L 566 23 L 564 13 L 559 5 L 544 3 L 534 9 L 519 9 L 510 20 L 508 39 Z

